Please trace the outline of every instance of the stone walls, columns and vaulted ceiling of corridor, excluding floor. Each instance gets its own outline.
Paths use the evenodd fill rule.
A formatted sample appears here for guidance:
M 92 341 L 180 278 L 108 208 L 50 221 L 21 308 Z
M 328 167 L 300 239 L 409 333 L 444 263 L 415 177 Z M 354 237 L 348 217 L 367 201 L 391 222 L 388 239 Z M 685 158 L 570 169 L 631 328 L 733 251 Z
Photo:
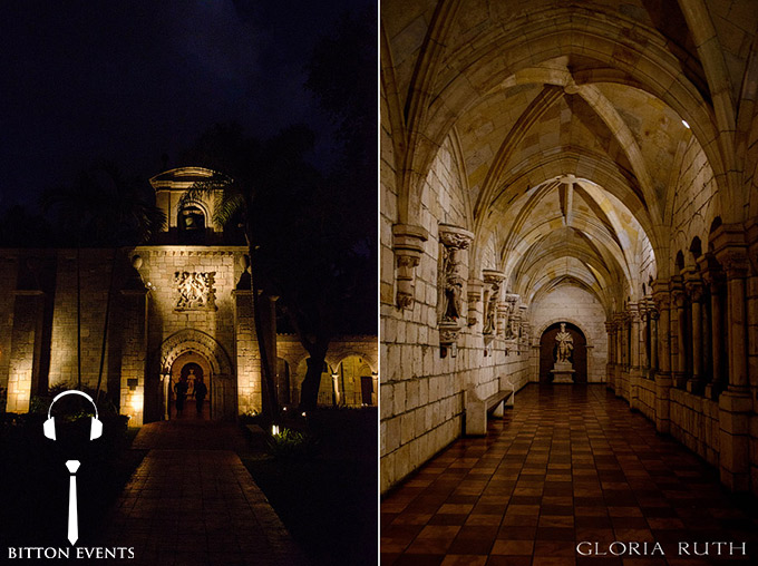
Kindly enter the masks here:
M 466 392 L 550 381 L 565 323 L 555 394 L 605 383 L 758 494 L 757 26 L 748 0 L 382 3 L 383 492 Z

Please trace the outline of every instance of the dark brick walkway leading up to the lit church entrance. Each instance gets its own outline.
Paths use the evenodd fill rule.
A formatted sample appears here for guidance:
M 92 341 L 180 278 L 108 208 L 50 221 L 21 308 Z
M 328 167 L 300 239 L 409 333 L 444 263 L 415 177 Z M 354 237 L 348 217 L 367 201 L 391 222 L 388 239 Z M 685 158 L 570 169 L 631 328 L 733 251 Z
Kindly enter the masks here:
M 193 449 L 167 449 L 176 423 L 143 427 L 135 445 L 152 448 L 107 518 L 104 546 L 135 548 L 130 565 L 304 565 L 307 560 L 229 449 L 244 439 L 237 427 L 195 423 Z M 200 449 L 201 446 L 212 449 Z M 175 445 L 176 446 L 176 445 Z M 178 445 L 182 446 L 182 445 Z M 161 447 L 161 448 L 154 448 Z M 215 449 L 214 449 L 215 448 Z

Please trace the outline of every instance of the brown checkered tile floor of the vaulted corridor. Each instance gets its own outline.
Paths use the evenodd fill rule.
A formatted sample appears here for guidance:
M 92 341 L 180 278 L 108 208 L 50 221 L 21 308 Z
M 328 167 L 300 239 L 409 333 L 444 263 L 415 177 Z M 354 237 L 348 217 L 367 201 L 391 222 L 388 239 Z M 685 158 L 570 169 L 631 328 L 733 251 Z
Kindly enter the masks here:
M 755 499 L 729 496 L 604 386 L 527 386 L 515 406 L 382 501 L 383 566 L 758 564 Z M 621 541 L 621 556 L 582 556 L 582 553 Z M 711 544 L 698 557 L 694 541 L 735 550 Z

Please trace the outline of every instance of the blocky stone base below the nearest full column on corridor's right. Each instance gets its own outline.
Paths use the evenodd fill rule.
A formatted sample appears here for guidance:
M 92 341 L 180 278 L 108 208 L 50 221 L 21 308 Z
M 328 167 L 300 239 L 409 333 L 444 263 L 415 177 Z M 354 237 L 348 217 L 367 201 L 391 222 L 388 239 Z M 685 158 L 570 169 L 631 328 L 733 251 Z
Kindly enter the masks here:
M 748 391 L 728 389 L 719 397 L 719 471 L 731 491 L 750 487 L 750 411 Z

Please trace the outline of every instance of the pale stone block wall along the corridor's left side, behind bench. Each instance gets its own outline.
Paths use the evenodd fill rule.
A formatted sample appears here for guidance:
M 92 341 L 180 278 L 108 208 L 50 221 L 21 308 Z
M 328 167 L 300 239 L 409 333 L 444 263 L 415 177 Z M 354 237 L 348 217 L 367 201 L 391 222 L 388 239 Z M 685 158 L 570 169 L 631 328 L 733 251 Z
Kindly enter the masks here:
M 482 297 L 475 301 L 477 320 L 461 321 L 456 345 L 443 357 L 438 312 L 440 225 L 466 228 L 469 205 L 464 197 L 460 166 L 448 138 L 431 165 L 420 195 L 420 214 L 412 219 L 428 234 L 415 267 L 411 306 L 398 308 L 392 252 L 392 226 L 398 222 L 397 202 L 389 172 L 391 142 L 382 125 L 381 208 L 381 490 L 386 491 L 461 435 L 464 392 L 480 398 L 494 393 L 499 378 L 519 389 L 528 381 L 529 348 L 526 340 L 506 341 L 483 335 Z M 387 173 L 387 174 L 385 174 Z M 383 205 L 387 201 L 387 206 Z M 482 267 L 466 269 L 482 277 Z M 463 296 L 474 291 L 466 286 Z M 470 323 L 470 325 L 468 325 Z M 486 352 L 486 353 L 485 353 Z

